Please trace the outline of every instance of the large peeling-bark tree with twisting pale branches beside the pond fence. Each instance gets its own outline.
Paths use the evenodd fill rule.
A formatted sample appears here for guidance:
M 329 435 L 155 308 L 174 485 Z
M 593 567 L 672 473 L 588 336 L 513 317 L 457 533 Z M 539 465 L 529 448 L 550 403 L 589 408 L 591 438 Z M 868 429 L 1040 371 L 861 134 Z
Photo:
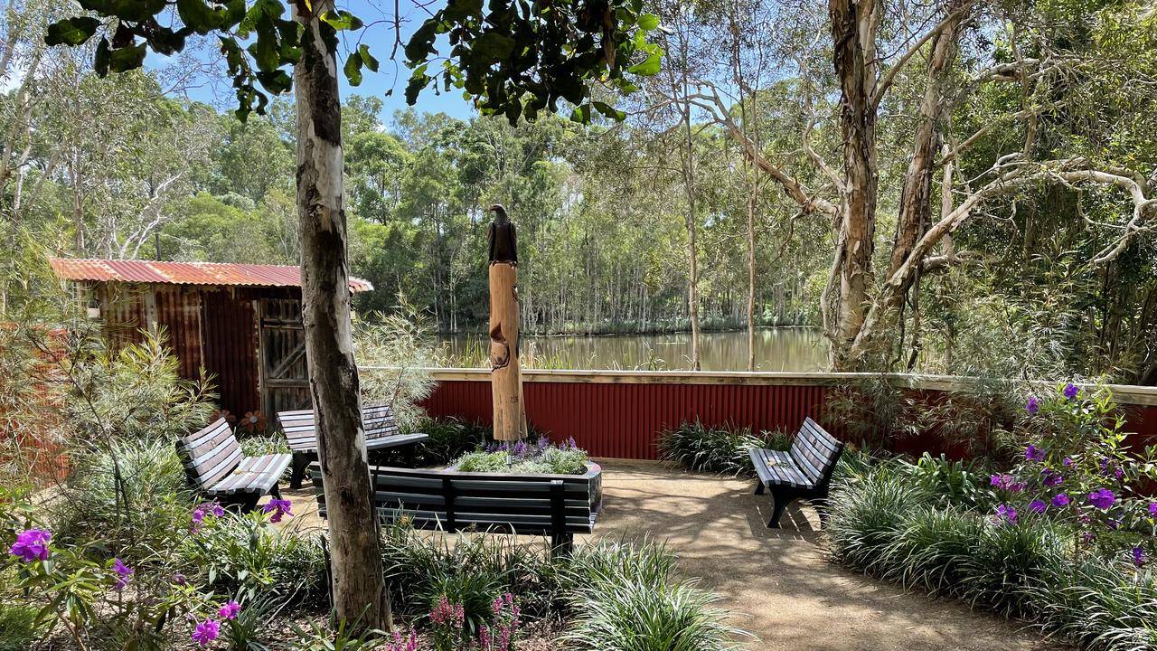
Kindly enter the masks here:
M 832 220 L 834 255 L 821 308 L 833 367 L 884 364 L 889 334 L 920 277 L 975 259 L 955 248 L 952 233 L 1012 197 L 1042 184 L 1115 192 L 1112 222 L 1120 232 L 1092 254 L 1096 264 L 1148 229 L 1157 210 L 1154 167 L 1119 159 L 1111 142 L 1103 144 L 1112 125 L 1048 146 L 1041 139 L 1052 115 L 1081 105 L 1090 92 L 1147 93 L 1151 57 L 1121 56 L 1152 39 L 1157 19 L 1142 3 L 830 0 L 826 12 L 817 2 L 780 3 L 778 12 L 767 36 L 790 37 L 781 74 L 804 82 L 798 102 L 806 119 L 793 146 L 767 147 L 743 130 L 737 93 L 724 75 L 695 79 L 694 93 L 670 100 L 723 125 L 801 211 Z M 823 23 L 815 20 L 825 14 Z M 811 67 L 817 56 L 830 59 L 831 78 Z M 830 95 L 839 97 L 834 110 L 812 105 L 811 97 Z M 971 119 L 975 115 L 983 123 Z M 880 129 L 892 130 L 896 148 L 905 149 L 898 188 L 882 185 L 897 159 L 882 160 L 891 152 L 880 151 Z M 831 142 L 831 149 L 818 145 Z M 892 192 L 896 232 L 877 261 L 877 214 L 892 210 Z

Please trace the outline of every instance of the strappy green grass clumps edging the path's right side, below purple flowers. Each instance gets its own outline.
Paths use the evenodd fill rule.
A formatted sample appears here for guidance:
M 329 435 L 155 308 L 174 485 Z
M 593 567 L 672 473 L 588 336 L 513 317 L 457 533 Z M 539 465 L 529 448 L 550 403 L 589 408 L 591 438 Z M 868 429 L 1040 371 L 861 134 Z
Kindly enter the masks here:
M 1063 526 L 1031 513 L 1015 525 L 996 524 L 967 491 L 945 498 L 914 476 L 902 461 L 840 475 L 827 529 L 834 561 L 1024 619 L 1085 649 L 1157 648 L 1151 569 L 1077 559 Z

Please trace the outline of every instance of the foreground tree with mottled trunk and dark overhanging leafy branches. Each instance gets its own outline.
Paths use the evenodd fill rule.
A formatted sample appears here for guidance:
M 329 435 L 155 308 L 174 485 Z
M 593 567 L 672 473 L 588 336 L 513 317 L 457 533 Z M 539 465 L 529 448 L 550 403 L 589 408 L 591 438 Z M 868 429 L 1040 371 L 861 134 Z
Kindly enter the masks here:
M 340 68 L 349 82 L 377 70 L 360 38 L 361 20 L 333 0 L 82 0 L 81 7 L 95 15 L 53 23 L 46 42 L 82 45 L 96 37 L 98 74 L 139 68 L 148 51 L 171 54 L 190 37 L 214 36 L 236 88 L 238 118 L 263 112 L 267 94 L 295 90 L 305 349 L 326 476 L 333 601 L 338 616 L 359 627 L 391 626 L 351 338 L 337 76 L 342 32 L 356 44 Z M 413 102 L 442 82 L 473 97 L 484 114 L 511 122 L 555 111 L 560 101 L 576 107 L 577 119 L 592 108 L 614 114 L 590 100 L 589 86 L 631 90 L 632 73 L 655 72 L 662 51 L 647 42 L 653 19 L 641 0 L 496 0 L 486 9 L 481 0 L 450 0 L 405 45 L 413 71 L 406 97 Z M 443 35 L 451 44 L 445 58 L 436 49 Z M 443 63 L 437 71 L 429 67 L 434 58 Z

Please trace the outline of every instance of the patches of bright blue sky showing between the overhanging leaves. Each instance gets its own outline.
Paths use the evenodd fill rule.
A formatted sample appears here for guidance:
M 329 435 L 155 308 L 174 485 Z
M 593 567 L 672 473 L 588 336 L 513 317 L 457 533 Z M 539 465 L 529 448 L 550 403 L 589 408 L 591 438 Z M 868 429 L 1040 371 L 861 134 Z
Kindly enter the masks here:
M 422 20 L 429 14 L 427 10 L 415 7 L 413 0 L 399 0 L 398 5 L 401 13 L 401 43 L 405 44 L 413 30 L 417 29 L 418 25 L 421 24 Z M 437 6 L 439 3 L 434 3 L 429 7 L 429 9 L 433 10 Z M 351 87 L 344 75 L 339 75 L 342 101 L 345 101 L 346 97 L 349 97 L 351 94 L 375 95 L 381 97 L 385 102 L 385 108 L 382 111 L 382 122 L 384 124 L 389 124 L 392 120 L 392 116 L 396 110 L 407 107 L 405 88 L 406 82 L 410 79 L 410 71 L 406 68 L 404 63 L 405 57 L 403 54 L 401 45 L 398 46 L 396 60 L 390 60 L 390 52 L 393 49 L 395 42 L 393 2 L 352 0 L 340 3 L 339 7 L 352 12 L 354 15 L 362 19 L 367 25 L 356 35 L 346 34 L 345 44 L 339 49 L 339 57 L 341 57 L 341 60 L 345 58 L 346 47 L 351 50 L 356 47 L 356 38 L 361 38 L 361 43 L 369 45 L 370 53 L 373 53 L 379 63 L 378 72 L 376 73 L 366 68 L 362 70 L 364 76 L 361 86 L 358 86 L 356 88 Z M 338 63 L 339 66 L 341 65 L 341 60 Z M 221 80 L 224 80 L 226 73 L 223 67 L 221 68 L 220 74 Z M 216 95 L 214 95 L 214 90 L 211 86 L 206 85 L 204 87 L 189 90 L 187 96 L 192 100 L 215 103 L 222 109 L 231 108 L 233 96 L 230 94 L 231 89 L 229 88 L 228 82 L 216 83 Z M 390 89 L 393 89 L 393 94 L 386 97 L 385 94 Z M 470 103 L 462 98 L 460 93 L 450 92 L 443 93 L 442 95 L 435 95 L 434 88 L 427 88 L 419 96 L 418 103 L 413 108 L 419 112 L 441 111 L 458 118 L 469 118 L 476 114 Z

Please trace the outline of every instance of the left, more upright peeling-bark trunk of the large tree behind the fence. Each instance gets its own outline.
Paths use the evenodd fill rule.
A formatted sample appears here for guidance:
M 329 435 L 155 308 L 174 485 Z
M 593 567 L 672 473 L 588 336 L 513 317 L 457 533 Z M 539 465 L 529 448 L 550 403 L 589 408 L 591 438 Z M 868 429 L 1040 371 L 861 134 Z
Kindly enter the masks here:
M 840 80 L 840 131 L 843 140 L 843 188 L 840 202 L 835 332 L 831 365 L 849 366 L 848 349 L 863 324 L 871 284 L 876 234 L 876 25 L 874 0 L 830 0 L 833 64 Z

